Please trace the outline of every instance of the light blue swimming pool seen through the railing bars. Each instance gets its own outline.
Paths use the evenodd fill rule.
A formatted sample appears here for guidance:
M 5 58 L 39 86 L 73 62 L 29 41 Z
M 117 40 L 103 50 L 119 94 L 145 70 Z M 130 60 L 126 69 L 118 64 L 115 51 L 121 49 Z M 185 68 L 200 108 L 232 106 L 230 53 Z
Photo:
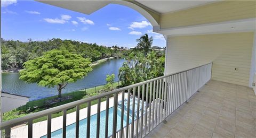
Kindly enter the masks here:
M 130 113 L 132 111 L 132 97 L 130 98 L 131 102 L 130 102 Z M 135 111 L 137 111 L 137 98 L 135 98 Z M 140 100 L 141 101 L 141 100 Z M 121 105 L 120 103 L 122 102 L 118 102 L 118 110 L 117 110 L 117 130 L 121 129 Z M 142 102 L 140 102 L 142 103 Z M 124 103 L 124 107 L 127 107 L 127 99 L 126 102 Z M 141 104 L 140 104 L 141 105 Z M 124 108 L 125 110 L 126 108 Z M 141 106 L 140 106 L 141 109 Z M 114 108 L 111 107 L 109 108 L 109 121 L 108 121 L 108 136 L 112 135 L 112 131 L 113 131 L 113 111 Z M 136 113 L 135 113 L 136 115 Z M 123 127 L 126 126 L 126 118 L 127 118 L 127 114 L 126 114 L 126 110 L 124 111 L 124 120 L 123 120 Z M 129 116 L 129 124 L 132 122 L 131 119 L 131 114 Z M 105 124 L 106 124 L 106 110 L 101 111 L 100 113 L 100 137 L 105 137 Z M 86 137 L 86 131 L 87 131 L 87 118 L 82 119 L 79 121 L 79 137 Z M 96 132 L 97 131 L 97 114 L 92 115 L 91 116 L 91 125 L 90 125 L 90 137 L 96 137 Z M 76 124 L 71 124 L 68 125 L 66 127 L 66 137 L 75 137 L 75 133 L 76 133 Z M 46 138 L 47 135 L 42 136 L 41 138 Z M 51 134 L 51 137 L 62 137 L 62 128 L 60 130 L 54 131 Z

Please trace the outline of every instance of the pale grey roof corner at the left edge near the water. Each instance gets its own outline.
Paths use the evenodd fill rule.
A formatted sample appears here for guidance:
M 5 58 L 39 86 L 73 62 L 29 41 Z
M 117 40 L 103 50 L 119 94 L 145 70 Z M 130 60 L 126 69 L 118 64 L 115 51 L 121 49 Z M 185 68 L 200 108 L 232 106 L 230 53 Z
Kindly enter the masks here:
M 29 101 L 29 97 L 20 96 L 18 94 L 11 94 L 9 92 L 3 92 L 1 94 L 1 111 L 5 113 L 12 109 L 26 105 Z

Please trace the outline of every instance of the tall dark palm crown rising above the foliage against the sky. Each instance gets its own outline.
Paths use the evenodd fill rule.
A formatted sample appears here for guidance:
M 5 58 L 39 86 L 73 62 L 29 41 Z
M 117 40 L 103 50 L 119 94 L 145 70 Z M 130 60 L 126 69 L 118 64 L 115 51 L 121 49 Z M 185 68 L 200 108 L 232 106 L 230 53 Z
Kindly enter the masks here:
M 149 53 L 149 51 L 151 51 L 151 46 L 153 44 L 153 37 L 148 38 L 148 34 L 146 33 L 136 41 L 138 42 L 138 44 L 134 49 L 143 50 L 143 53 L 146 56 Z

